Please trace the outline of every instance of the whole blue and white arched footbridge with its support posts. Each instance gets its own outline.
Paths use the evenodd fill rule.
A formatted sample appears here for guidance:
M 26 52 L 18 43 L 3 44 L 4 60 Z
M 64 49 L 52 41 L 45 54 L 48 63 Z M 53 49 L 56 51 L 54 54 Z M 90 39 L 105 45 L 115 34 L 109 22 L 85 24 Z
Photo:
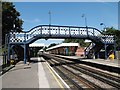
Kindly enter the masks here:
M 27 32 L 10 32 L 8 34 L 8 60 L 10 59 L 10 48 L 14 45 L 20 45 L 24 48 L 24 63 L 26 63 L 27 46 L 38 39 L 49 38 L 76 38 L 91 40 L 94 45 L 87 47 L 85 50 L 88 58 L 91 56 L 91 53 L 97 54 L 102 48 L 105 49 L 105 58 L 107 58 L 107 46 L 115 46 L 113 35 L 105 35 L 100 30 L 93 27 L 39 25 Z

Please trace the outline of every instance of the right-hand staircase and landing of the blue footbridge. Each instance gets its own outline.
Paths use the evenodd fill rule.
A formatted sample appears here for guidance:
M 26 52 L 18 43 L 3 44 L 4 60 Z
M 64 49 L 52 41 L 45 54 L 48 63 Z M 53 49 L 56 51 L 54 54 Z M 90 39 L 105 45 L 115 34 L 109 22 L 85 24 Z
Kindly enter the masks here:
M 99 37 L 101 37 L 101 40 L 99 39 Z M 85 55 L 87 58 L 99 58 L 99 56 L 102 55 L 100 55 L 100 51 L 103 49 L 105 55 L 102 55 L 101 57 L 107 59 L 107 47 L 113 45 L 113 47 L 115 48 L 115 40 L 113 35 L 101 34 L 100 36 L 97 36 L 95 38 L 92 37 L 91 40 L 92 43 L 85 49 Z

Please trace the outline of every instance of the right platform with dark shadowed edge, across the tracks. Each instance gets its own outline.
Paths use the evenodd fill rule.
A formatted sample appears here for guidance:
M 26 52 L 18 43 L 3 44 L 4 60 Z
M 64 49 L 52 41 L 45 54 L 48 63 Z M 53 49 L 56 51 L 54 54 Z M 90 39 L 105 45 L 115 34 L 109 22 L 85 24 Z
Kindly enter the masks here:
M 57 55 L 58 57 L 64 57 L 69 60 L 77 60 L 79 63 L 86 64 L 92 67 L 96 67 L 105 71 L 110 71 L 116 74 L 120 74 L 120 60 L 105 60 L 105 59 L 84 59 L 78 56 L 62 56 Z

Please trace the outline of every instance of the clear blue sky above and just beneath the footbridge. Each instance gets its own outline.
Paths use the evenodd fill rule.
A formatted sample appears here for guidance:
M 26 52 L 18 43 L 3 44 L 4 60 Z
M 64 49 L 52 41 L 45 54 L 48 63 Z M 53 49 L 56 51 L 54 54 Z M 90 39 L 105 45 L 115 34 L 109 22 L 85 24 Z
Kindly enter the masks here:
M 118 29 L 118 2 L 14 2 L 24 21 L 23 30 L 29 31 L 37 25 L 48 25 L 51 11 L 52 25 L 87 26 L 102 30 L 106 27 Z M 103 26 L 100 23 L 104 23 Z M 61 43 L 64 39 L 40 39 L 36 43 Z

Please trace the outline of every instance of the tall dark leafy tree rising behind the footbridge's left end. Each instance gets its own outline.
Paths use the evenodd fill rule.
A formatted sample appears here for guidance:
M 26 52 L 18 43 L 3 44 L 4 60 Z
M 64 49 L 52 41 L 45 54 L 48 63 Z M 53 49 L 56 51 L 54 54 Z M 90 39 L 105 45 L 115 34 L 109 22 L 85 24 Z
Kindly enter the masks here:
M 23 21 L 19 18 L 20 13 L 15 5 L 10 2 L 2 2 L 2 44 L 5 44 L 5 34 L 13 31 L 22 31 Z

